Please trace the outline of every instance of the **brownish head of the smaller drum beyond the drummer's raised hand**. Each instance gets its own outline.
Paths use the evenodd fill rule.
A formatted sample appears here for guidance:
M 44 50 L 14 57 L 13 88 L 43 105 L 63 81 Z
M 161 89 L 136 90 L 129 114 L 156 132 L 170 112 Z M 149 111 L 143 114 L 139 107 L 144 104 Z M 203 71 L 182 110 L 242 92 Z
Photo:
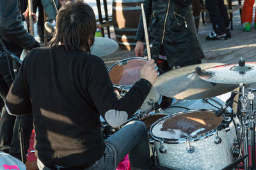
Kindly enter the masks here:
M 147 59 L 132 57 L 120 60 L 109 68 L 109 77 L 115 85 L 134 85 L 140 79 L 140 70 L 147 63 Z

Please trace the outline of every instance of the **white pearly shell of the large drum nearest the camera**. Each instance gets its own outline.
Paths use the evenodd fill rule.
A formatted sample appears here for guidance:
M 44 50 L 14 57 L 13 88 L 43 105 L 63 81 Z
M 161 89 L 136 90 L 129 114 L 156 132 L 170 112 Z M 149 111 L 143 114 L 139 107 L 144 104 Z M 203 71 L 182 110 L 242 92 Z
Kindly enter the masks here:
M 188 143 L 170 144 L 154 141 L 157 160 L 161 166 L 172 169 L 221 169 L 232 162 L 232 155 L 228 147 L 227 132 L 221 130 L 218 135 L 222 139 L 220 144 L 214 143 L 216 134 L 207 138 L 191 141 L 195 152 L 188 153 Z M 160 153 L 161 145 L 166 153 Z

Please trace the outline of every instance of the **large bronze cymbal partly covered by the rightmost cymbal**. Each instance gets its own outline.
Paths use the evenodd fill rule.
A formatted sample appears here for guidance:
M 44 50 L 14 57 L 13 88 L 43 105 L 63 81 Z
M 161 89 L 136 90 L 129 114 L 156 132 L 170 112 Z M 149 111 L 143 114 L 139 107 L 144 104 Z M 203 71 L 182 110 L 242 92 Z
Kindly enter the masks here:
M 204 99 L 225 94 L 236 89 L 237 85 L 204 81 L 195 72 L 195 67 L 206 69 L 220 65 L 222 63 L 204 63 L 173 69 L 161 74 L 154 83 L 154 88 L 163 96 L 175 99 Z

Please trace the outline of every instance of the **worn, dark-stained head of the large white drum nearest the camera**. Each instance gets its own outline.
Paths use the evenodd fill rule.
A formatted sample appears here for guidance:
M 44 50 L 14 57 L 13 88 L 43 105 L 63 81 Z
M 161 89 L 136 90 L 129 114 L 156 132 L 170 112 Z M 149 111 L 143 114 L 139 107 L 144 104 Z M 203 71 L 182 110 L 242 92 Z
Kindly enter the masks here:
M 214 111 L 191 110 L 164 117 L 153 124 L 150 130 L 156 138 L 188 138 L 216 129 L 222 120 L 214 115 Z

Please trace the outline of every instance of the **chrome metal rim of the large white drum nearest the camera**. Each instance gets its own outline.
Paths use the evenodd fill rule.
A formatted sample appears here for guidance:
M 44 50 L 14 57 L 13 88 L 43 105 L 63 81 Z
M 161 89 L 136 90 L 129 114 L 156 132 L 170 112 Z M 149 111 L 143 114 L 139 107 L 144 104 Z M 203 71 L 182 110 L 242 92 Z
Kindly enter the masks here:
M 186 143 L 187 141 L 197 141 L 199 139 L 204 139 L 204 138 L 207 138 L 209 136 L 212 136 L 213 134 L 216 134 L 216 132 L 218 132 L 218 129 L 221 127 L 221 125 L 218 125 L 218 127 L 212 129 L 211 131 L 204 132 L 204 134 L 191 136 L 189 138 L 178 138 L 178 139 L 159 138 L 157 136 L 154 136 L 154 134 L 152 133 L 153 127 L 156 124 L 158 124 L 159 122 L 161 122 L 162 120 L 164 120 L 165 118 L 173 117 L 175 115 L 179 115 L 179 114 L 182 114 L 182 113 L 193 113 L 193 112 L 196 112 L 196 111 L 209 111 L 209 112 L 215 113 L 216 110 L 210 110 L 210 109 L 186 110 L 186 111 L 179 111 L 177 113 L 173 113 L 172 115 L 168 115 L 166 117 L 160 118 L 159 120 L 157 120 L 156 122 L 154 122 L 154 124 L 152 124 L 150 126 L 150 129 L 149 129 L 149 132 L 148 132 L 150 137 L 152 139 L 154 139 L 155 141 L 159 141 L 161 143 L 179 144 L 179 143 Z

